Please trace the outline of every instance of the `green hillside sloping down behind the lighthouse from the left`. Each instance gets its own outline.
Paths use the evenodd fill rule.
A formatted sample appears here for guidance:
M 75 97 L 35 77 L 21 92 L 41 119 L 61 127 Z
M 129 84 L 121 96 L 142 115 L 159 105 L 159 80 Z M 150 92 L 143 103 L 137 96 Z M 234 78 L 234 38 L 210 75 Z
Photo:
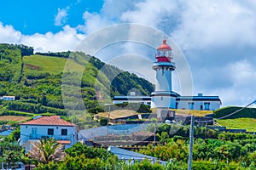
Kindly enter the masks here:
M 143 78 L 81 52 L 33 54 L 31 47 L 0 44 L 0 58 L 0 96 L 17 99 L 0 100 L 0 115 L 67 115 L 63 99 L 65 108 L 83 110 L 85 105 L 94 114 L 116 94 L 127 95 L 135 88 L 149 95 L 154 90 Z M 76 101 L 79 95 L 82 103 Z

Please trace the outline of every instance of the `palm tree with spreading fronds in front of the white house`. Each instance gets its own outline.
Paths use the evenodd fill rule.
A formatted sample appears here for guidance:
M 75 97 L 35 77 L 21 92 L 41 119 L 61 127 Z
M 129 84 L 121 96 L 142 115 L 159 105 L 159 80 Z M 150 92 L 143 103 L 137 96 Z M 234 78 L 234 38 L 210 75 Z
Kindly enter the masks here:
M 66 156 L 64 145 L 58 144 L 55 139 L 40 139 L 32 144 L 29 150 L 30 157 L 47 164 L 49 161 L 62 161 Z

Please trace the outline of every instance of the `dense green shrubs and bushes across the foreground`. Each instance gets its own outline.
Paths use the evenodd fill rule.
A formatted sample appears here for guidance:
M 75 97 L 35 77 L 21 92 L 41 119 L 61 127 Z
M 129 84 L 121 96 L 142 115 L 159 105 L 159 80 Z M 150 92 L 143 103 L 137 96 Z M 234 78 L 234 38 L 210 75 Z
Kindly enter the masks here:
M 166 166 L 151 164 L 149 160 L 125 164 L 104 148 L 88 147 L 80 143 L 65 150 L 64 158 L 40 160 L 42 156 L 25 155 L 24 150 L 15 144 L 15 134 L 0 143 L 0 158 L 4 164 L 15 165 L 16 161 L 35 164 L 37 169 L 187 169 L 189 139 L 166 136 L 160 133 L 160 143 L 155 147 L 149 144 L 137 150 L 148 156 L 166 161 Z M 167 133 L 168 134 L 168 133 Z M 255 169 L 256 136 L 245 133 L 218 133 L 215 139 L 195 138 L 192 169 Z M 51 141 L 51 139 L 49 139 Z M 53 144 L 54 142 L 45 143 Z M 54 144 L 53 144 L 54 145 Z M 45 149 L 47 147 L 44 147 Z M 43 149 L 42 149 L 43 150 Z M 45 150 L 46 151 L 46 150 Z M 52 152 L 53 150 L 48 150 Z M 59 150 L 61 151 L 61 150 Z M 39 152 L 38 152 L 39 153 Z M 44 151 L 41 154 L 46 154 Z M 49 155 L 49 154 L 46 154 Z M 33 158 L 29 158 L 32 156 Z M 53 157 L 52 157 L 53 158 Z

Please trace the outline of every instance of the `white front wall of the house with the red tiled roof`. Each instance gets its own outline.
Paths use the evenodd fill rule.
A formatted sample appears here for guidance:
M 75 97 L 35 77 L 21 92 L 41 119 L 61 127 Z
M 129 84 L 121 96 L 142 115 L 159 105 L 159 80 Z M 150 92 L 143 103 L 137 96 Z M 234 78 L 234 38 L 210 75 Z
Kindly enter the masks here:
M 32 135 L 32 128 L 37 128 L 37 138 L 48 135 L 48 128 L 54 129 L 54 135 L 49 136 L 55 139 L 67 139 L 71 144 L 67 144 L 67 148 L 77 143 L 77 131 L 75 127 L 64 126 L 40 126 L 40 125 L 20 125 L 20 145 L 25 144 Z M 61 135 L 61 129 L 67 129 L 67 135 Z

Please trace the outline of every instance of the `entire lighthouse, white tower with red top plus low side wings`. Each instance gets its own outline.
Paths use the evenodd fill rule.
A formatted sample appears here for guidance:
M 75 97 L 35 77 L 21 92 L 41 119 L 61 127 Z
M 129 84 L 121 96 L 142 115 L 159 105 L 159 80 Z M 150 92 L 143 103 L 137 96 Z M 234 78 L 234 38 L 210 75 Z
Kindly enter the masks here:
M 186 109 L 186 110 L 216 110 L 221 100 L 218 96 L 181 96 L 172 91 L 172 71 L 176 69 L 172 61 L 172 48 L 166 40 L 157 48 L 156 61 L 152 69 L 155 71 L 155 90 L 150 96 L 137 96 L 134 92 L 129 96 L 114 96 L 113 104 L 142 103 L 150 105 L 152 109 Z

